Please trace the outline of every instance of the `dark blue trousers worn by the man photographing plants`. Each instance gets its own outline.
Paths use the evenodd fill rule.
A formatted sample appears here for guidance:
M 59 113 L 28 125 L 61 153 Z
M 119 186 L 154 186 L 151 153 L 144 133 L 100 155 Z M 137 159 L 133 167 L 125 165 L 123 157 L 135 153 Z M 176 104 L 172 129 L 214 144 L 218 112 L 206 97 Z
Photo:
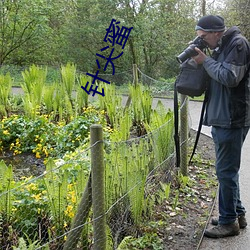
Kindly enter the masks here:
M 241 149 L 249 127 L 212 127 L 215 143 L 216 175 L 219 181 L 219 223 L 230 224 L 245 214 L 240 200 L 239 169 Z

